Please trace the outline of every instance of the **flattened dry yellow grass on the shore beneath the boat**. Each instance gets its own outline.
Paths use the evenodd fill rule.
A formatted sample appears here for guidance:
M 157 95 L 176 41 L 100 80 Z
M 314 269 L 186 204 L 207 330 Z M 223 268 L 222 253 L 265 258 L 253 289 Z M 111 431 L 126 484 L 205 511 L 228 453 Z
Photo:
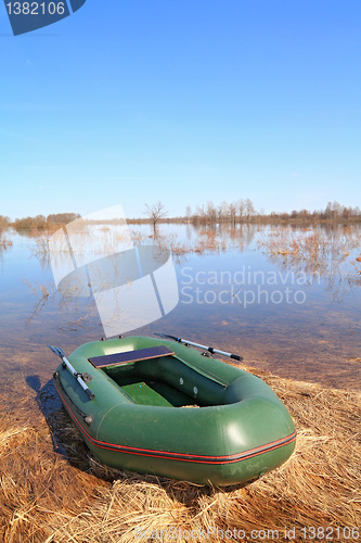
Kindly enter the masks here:
M 103 467 L 63 411 L 51 415 L 50 431 L 31 391 L 24 386 L 18 401 L 8 383 L 9 396 L 0 399 L 0 541 L 114 543 L 153 534 L 204 542 L 224 540 L 227 529 L 246 534 L 228 541 L 255 540 L 252 530 L 278 530 L 272 539 L 285 541 L 285 527 L 305 541 L 304 527 L 360 526 L 360 394 L 261 376 L 295 418 L 297 447 L 280 469 L 223 490 Z M 54 435 L 67 457 L 54 452 Z

